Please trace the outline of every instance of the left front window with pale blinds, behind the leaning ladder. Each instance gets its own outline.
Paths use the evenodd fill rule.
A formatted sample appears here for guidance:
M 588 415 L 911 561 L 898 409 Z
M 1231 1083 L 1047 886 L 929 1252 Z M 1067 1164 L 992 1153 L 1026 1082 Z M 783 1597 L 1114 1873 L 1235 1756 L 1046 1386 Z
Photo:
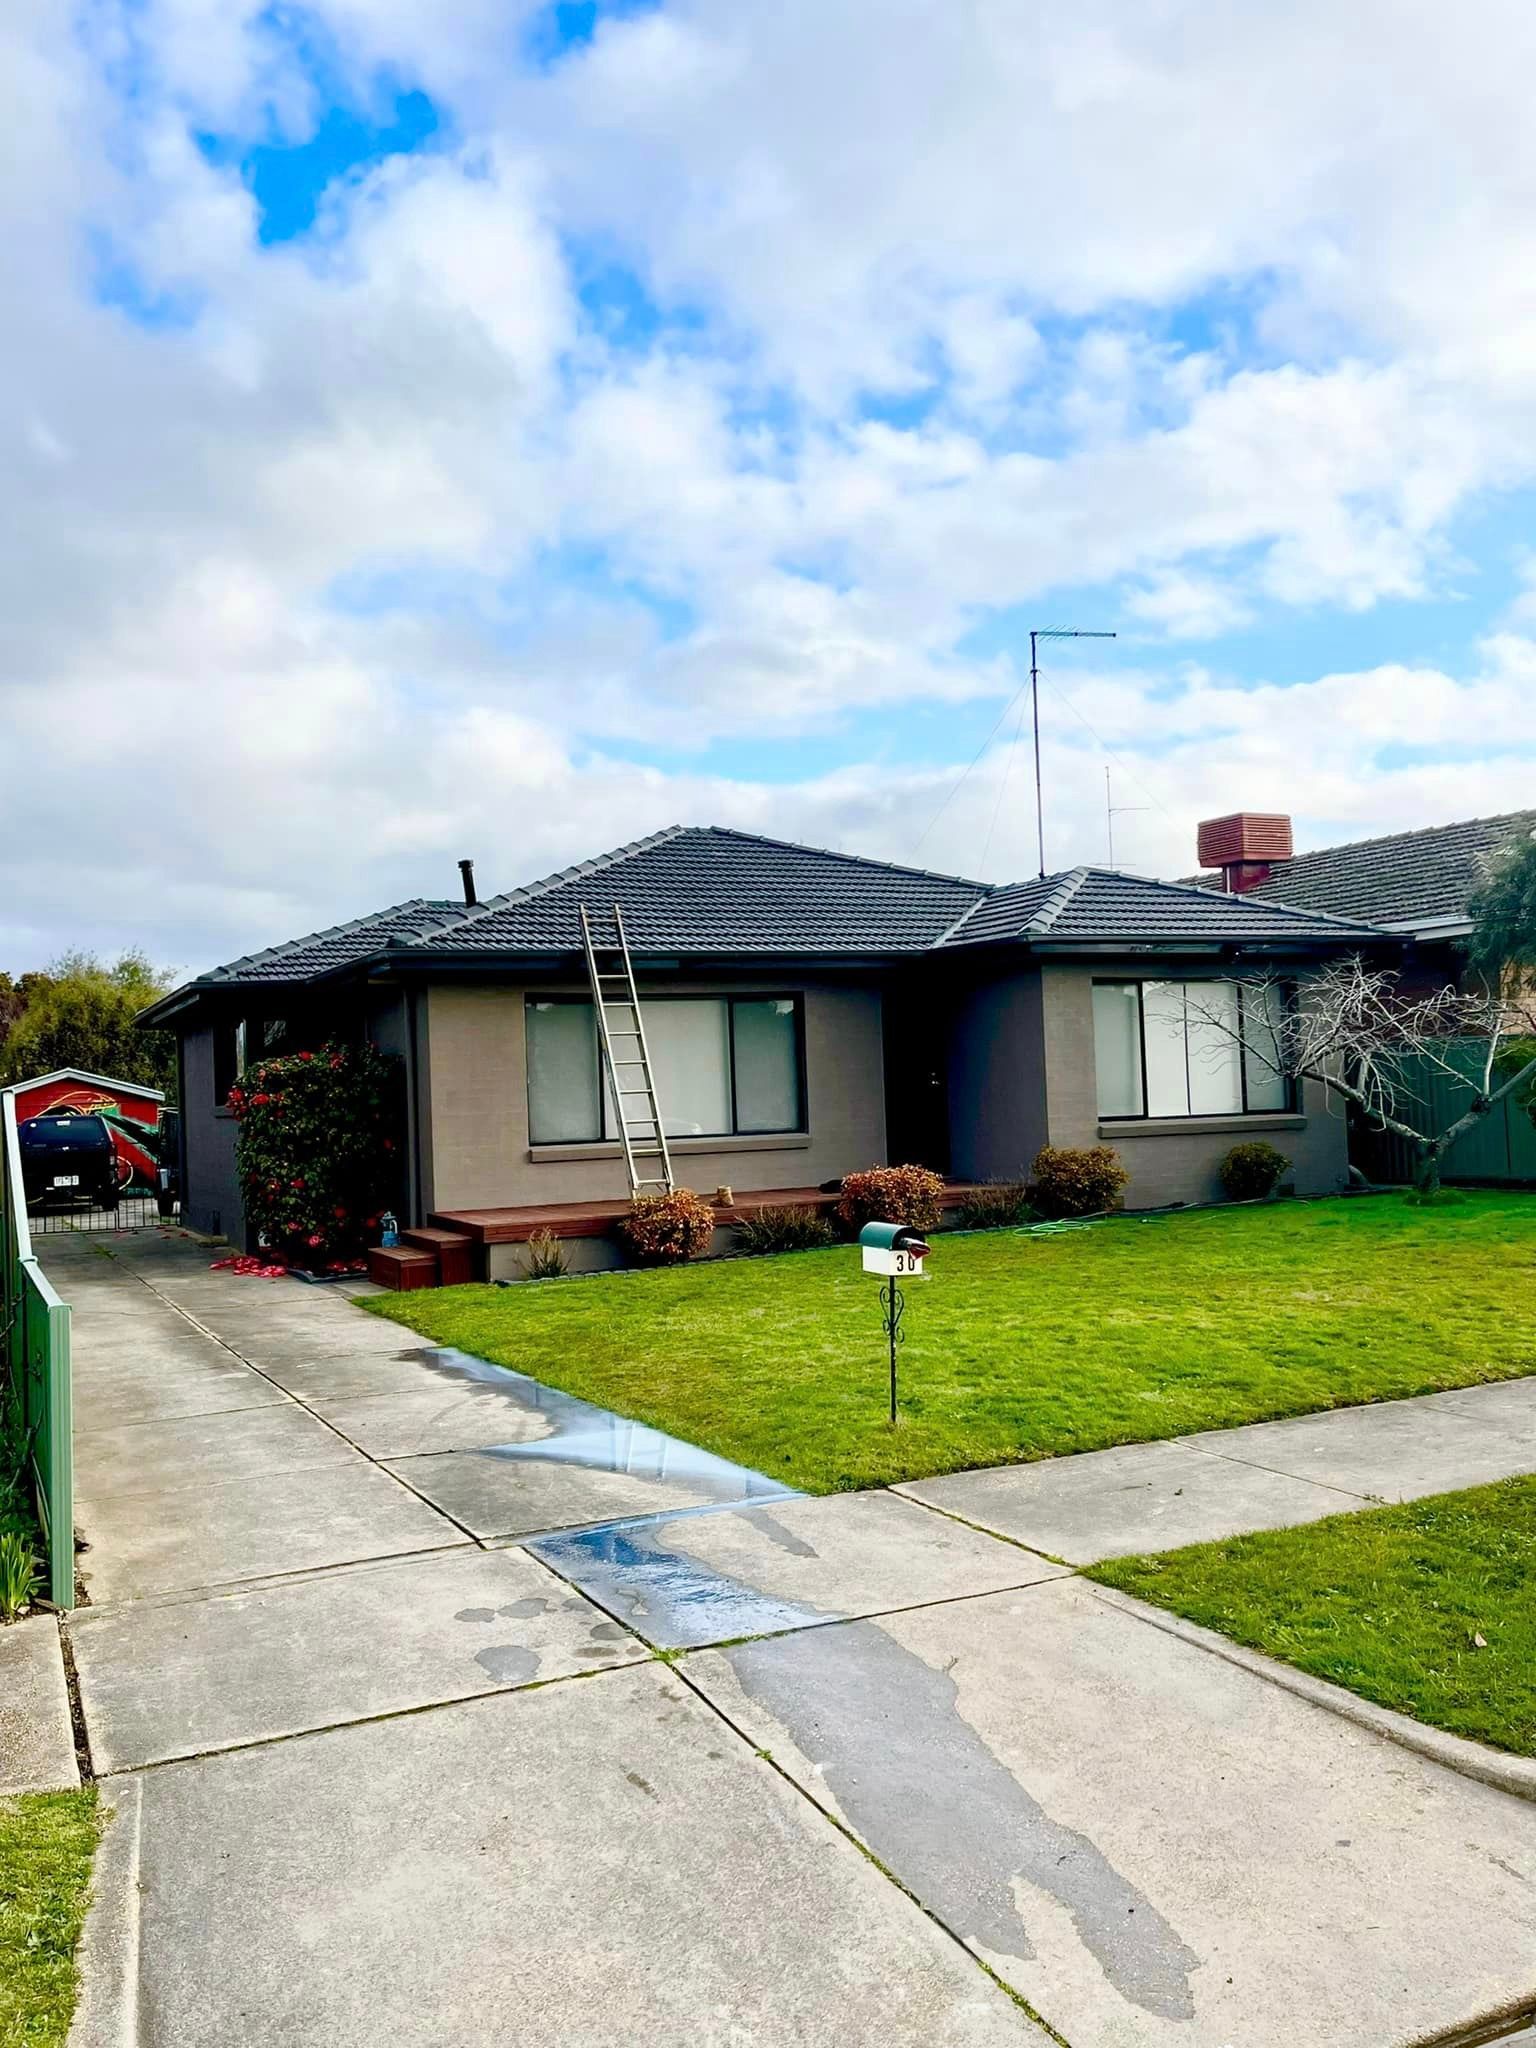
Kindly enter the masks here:
M 641 1008 L 670 1139 L 805 1128 L 799 997 L 655 995 Z M 610 1030 L 623 1022 L 610 1014 Z M 614 1038 L 616 1059 L 633 1051 L 633 1040 Z M 637 1069 L 627 1073 L 641 1083 Z M 641 1104 L 631 1104 L 631 1128 L 639 1112 Z M 618 1137 L 590 1001 L 528 997 L 528 1137 L 535 1145 Z

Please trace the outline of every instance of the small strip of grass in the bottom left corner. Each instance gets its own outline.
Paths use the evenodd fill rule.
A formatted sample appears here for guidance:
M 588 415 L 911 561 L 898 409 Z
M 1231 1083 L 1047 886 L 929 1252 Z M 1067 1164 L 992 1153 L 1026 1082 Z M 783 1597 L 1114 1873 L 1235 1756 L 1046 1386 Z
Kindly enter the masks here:
M 96 1853 L 94 1792 L 0 1798 L 0 2048 L 61 2048 Z

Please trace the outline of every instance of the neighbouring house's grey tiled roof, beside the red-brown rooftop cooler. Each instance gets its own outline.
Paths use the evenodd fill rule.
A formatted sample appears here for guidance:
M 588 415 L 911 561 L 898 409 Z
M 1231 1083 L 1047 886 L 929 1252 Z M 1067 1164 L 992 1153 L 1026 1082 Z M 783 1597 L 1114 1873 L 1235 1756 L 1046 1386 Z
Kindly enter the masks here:
M 1315 854 L 1276 862 L 1268 881 L 1245 897 L 1384 926 L 1456 920 L 1466 915 L 1466 901 L 1483 881 L 1489 856 L 1534 831 L 1536 811 L 1505 811 L 1458 825 L 1395 831 L 1384 840 L 1323 846 Z M 1192 881 L 1206 889 L 1221 887 L 1219 874 Z

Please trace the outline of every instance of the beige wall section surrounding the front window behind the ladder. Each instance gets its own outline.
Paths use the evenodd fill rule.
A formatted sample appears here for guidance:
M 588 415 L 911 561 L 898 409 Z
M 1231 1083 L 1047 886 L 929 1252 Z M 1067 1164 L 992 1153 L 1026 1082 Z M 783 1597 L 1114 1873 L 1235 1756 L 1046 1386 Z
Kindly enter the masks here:
M 883 1163 L 885 1067 L 877 989 L 721 977 L 668 983 L 666 993 L 782 995 L 791 987 L 805 999 L 807 1133 L 674 1143 L 672 1169 L 680 1186 L 705 1194 L 721 1184 L 813 1188 L 854 1167 Z M 428 1208 L 510 1208 L 621 1200 L 629 1194 L 616 1145 L 528 1145 L 526 993 L 524 987 L 444 985 L 428 991 L 422 1077 Z M 571 983 L 549 993 L 582 991 Z M 641 1001 L 645 993 L 641 983 Z

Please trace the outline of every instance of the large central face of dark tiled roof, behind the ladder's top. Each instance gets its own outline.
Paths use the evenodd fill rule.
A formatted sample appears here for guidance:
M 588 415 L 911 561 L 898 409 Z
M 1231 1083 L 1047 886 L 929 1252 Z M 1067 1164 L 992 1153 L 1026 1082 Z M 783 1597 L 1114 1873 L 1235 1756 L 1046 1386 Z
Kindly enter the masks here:
M 635 952 L 924 952 L 985 895 L 983 883 L 926 868 L 719 825 L 674 825 L 494 897 L 426 950 L 565 954 L 582 944 L 584 903 L 602 913 L 618 903 Z

